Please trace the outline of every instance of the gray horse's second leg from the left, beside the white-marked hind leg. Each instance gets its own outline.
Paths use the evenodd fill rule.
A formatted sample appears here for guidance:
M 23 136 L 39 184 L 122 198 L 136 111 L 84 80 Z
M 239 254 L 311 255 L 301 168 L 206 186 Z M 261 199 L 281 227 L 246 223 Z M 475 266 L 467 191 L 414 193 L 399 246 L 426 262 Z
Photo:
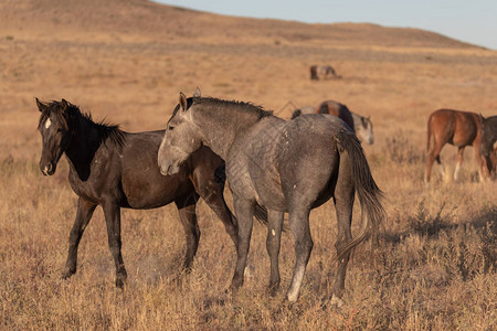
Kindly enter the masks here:
M 266 249 L 269 254 L 271 260 L 271 277 L 269 277 L 269 292 L 275 295 L 276 290 L 279 288 L 279 246 L 282 241 L 282 226 L 283 226 L 283 212 L 276 212 L 268 210 L 267 218 L 267 238 L 266 238 Z

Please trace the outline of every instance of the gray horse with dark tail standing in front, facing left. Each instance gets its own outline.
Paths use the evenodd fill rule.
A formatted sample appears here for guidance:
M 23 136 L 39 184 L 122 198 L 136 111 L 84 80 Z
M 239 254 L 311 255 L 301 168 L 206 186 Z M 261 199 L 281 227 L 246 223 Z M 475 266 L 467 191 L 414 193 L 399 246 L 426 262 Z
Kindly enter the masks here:
M 179 171 L 180 166 L 201 146 L 209 146 L 226 162 L 226 177 L 233 192 L 239 221 L 239 246 L 231 288 L 243 284 L 253 211 L 261 204 L 268 212 L 266 248 L 271 260 L 269 290 L 279 287 L 278 255 L 283 215 L 289 214 L 295 237 L 295 269 L 287 291 L 297 300 L 304 273 L 313 249 L 309 212 L 334 197 L 338 238 L 338 270 L 330 295 L 340 305 L 350 252 L 384 215 L 382 195 L 362 148 L 342 120 L 329 115 L 306 115 L 286 121 L 252 104 L 202 98 L 197 89 L 192 98 L 182 93 L 159 148 L 162 174 Z M 351 221 L 355 194 L 362 210 L 362 227 L 352 238 Z

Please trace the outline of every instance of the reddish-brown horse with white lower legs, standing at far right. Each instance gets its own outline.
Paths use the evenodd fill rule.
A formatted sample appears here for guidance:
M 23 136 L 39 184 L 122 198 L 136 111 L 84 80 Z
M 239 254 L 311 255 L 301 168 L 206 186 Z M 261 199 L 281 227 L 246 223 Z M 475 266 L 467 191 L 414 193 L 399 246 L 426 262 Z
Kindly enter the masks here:
M 480 124 L 478 114 L 469 111 L 438 109 L 430 115 L 426 142 L 427 162 L 424 175 L 426 183 L 430 183 L 432 167 L 435 160 L 441 164 L 442 173 L 445 174 L 445 169 L 440 160 L 440 152 L 445 143 L 451 143 L 458 148 L 454 180 L 458 179 L 461 164 L 463 163 L 464 148 L 466 146 L 473 146 L 475 149 L 480 181 L 485 177 L 489 177 L 486 160 L 480 153 Z

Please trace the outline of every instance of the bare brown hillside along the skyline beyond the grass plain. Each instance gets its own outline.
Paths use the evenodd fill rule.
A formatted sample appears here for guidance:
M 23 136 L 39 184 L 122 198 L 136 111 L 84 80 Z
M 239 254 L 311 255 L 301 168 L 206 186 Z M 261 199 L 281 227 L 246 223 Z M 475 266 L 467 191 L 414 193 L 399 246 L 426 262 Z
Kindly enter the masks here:
M 36 39 L 103 33 L 107 41 L 134 36 L 161 42 L 472 47 L 417 29 L 232 18 L 147 0 L 7 0 L 0 2 L 0 31 Z

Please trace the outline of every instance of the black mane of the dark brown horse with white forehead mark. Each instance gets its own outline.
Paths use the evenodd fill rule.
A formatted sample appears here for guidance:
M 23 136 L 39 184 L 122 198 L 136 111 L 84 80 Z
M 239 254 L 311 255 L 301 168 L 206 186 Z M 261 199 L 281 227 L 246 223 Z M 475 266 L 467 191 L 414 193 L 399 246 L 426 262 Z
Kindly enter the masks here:
M 45 106 L 46 109 L 43 110 L 40 116 L 39 128 L 51 115 L 53 115 L 59 121 L 65 124 L 70 130 L 77 130 L 77 124 L 93 126 L 98 131 L 99 142 L 105 142 L 108 138 L 109 141 L 119 149 L 123 148 L 126 142 L 124 131 L 119 129 L 119 125 L 106 122 L 105 119 L 95 122 L 89 113 L 81 113 L 80 107 L 76 105 L 67 103 L 67 107 L 64 109 L 63 103 L 52 100 L 51 103 L 46 103 Z

